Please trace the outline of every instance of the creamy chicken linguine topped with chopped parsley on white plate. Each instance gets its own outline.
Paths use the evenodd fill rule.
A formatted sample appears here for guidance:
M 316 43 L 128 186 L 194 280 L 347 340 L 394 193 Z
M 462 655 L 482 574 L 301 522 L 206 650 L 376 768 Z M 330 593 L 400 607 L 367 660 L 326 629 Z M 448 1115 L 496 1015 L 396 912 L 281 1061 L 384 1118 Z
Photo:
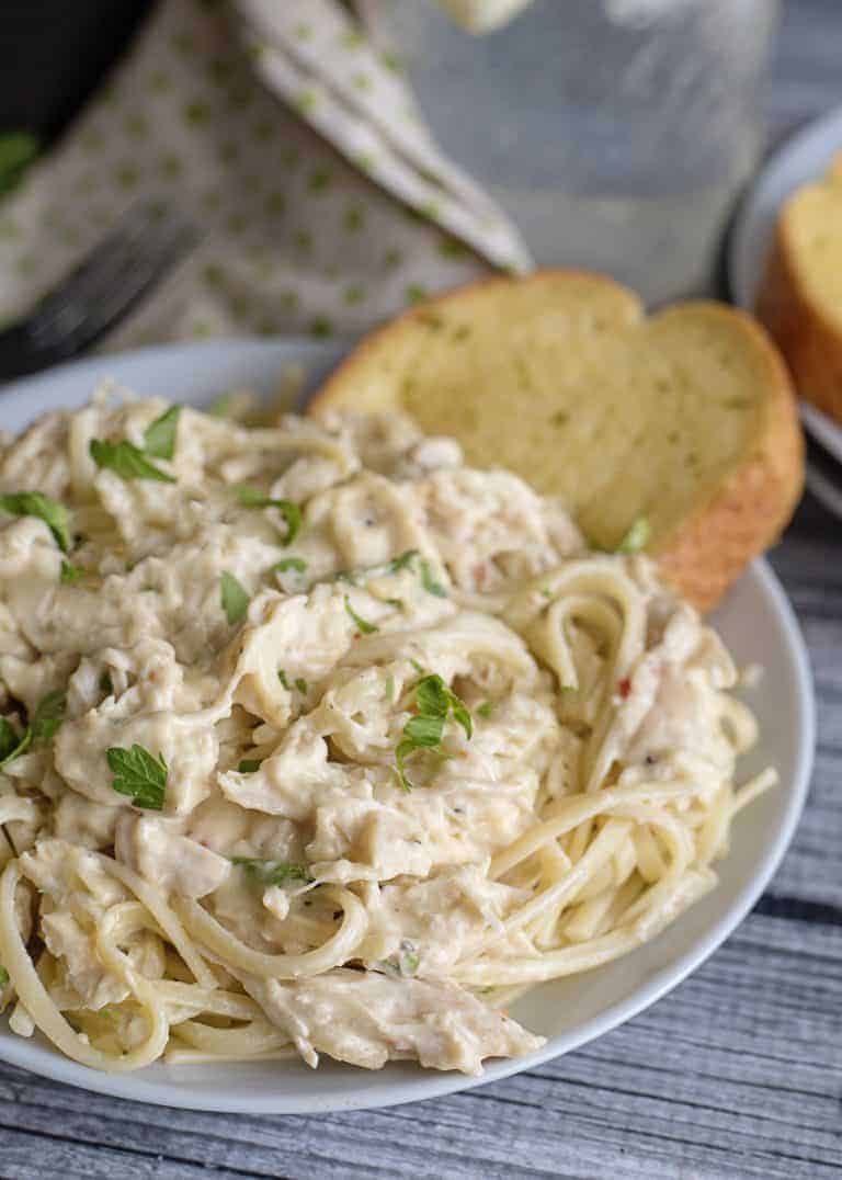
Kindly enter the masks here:
M 636 552 L 400 417 L 101 389 L 0 452 L 0 981 L 130 1070 L 481 1071 L 715 884 L 755 741 Z

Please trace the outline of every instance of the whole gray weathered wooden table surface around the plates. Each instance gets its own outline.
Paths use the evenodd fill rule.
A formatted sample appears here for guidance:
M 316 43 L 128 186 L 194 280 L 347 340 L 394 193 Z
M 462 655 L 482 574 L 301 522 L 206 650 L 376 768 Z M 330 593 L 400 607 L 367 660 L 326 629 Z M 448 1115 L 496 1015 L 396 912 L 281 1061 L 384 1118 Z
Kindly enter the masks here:
M 840 0 L 788 6 L 775 138 L 842 103 L 841 50 Z M 771 559 L 815 671 L 810 798 L 769 892 L 670 996 L 538 1069 L 382 1112 L 198 1114 L 0 1064 L 0 1175 L 842 1176 L 842 530 L 808 497 Z

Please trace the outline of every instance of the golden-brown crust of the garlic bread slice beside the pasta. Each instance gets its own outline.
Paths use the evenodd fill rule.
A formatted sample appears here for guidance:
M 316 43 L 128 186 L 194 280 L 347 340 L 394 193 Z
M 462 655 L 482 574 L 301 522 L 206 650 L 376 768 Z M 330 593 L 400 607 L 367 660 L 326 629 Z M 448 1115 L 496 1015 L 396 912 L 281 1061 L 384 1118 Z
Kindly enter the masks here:
M 526 280 L 494 277 L 480 280 L 430 300 L 376 329 L 331 374 L 310 404 L 311 413 L 322 413 L 353 398 L 355 408 L 392 409 L 400 406 L 400 394 L 392 388 L 384 394 L 382 381 L 367 382 L 374 358 L 395 356 L 395 381 L 412 362 L 412 334 L 419 316 L 436 309 L 452 308 L 471 300 L 491 284 L 504 291 L 517 283 L 544 284 L 552 293 L 559 277 L 579 276 L 605 283 L 618 299 L 624 297 L 627 322 L 644 323 L 643 306 L 637 296 L 606 276 L 586 271 L 541 270 Z M 695 309 L 695 313 L 692 313 Z M 703 301 L 679 306 L 662 313 L 705 315 L 735 324 L 752 350 L 765 391 L 764 413 L 752 439 L 750 453 L 729 472 L 712 496 L 696 506 L 678 529 L 662 538 L 651 551 L 665 581 L 699 610 L 710 610 L 745 564 L 772 544 L 791 517 L 803 486 L 803 437 L 798 424 L 795 396 L 787 368 L 763 328 L 750 316 L 724 304 Z M 658 317 L 660 319 L 660 316 Z

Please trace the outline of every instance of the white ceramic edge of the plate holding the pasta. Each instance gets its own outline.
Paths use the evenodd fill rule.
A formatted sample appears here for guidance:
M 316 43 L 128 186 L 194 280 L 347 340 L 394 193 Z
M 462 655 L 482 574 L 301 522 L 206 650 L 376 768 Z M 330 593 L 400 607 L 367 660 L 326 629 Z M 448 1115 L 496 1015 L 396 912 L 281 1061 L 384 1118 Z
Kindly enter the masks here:
M 218 392 L 222 392 L 233 384 L 242 385 L 242 376 L 238 380 L 237 375 L 242 373 L 244 367 L 248 368 L 248 365 L 244 366 L 244 359 L 249 359 L 252 366 L 259 365 L 267 374 L 277 372 L 284 360 L 310 360 L 314 366 L 325 372 L 338 360 L 344 348 L 343 345 L 325 346 L 313 341 L 292 340 L 282 342 L 213 341 L 203 345 L 140 349 L 113 358 L 99 356 L 94 360 L 61 366 L 47 374 L 39 374 L 15 382 L 13 386 L 7 386 L 5 391 L 0 389 L 0 424 L 2 422 L 4 404 L 11 405 L 8 399 L 20 399 L 25 405 L 29 401 L 35 402 L 44 391 L 52 386 L 61 386 L 63 382 L 70 380 L 72 392 L 59 398 L 58 401 L 78 405 L 84 400 L 85 391 L 90 391 L 94 379 L 107 374 L 110 369 L 119 369 L 121 380 L 144 394 L 166 393 L 167 380 L 178 380 L 178 395 L 189 399 L 191 381 L 195 388 L 202 387 L 206 393 L 208 378 L 202 378 L 200 374 L 206 374 L 209 369 L 212 369 L 215 380 L 218 379 Z M 284 356 L 284 353 L 288 352 L 295 355 Z M 195 363 L 199 355 L 203 358 L 203 363 Z M 156 374 L 154 384 L 150 384 L 144 376 L 144 374 L 150 373 Z M 39 406 L 33 405 L 34 413 L 40 413 L 44 408 L 46 408 L 44 402 Z M 539 1051 L 527 1057 L 492 1062 L 480 1077 L 466 1077 L 454 1073 L 422 1073 L 413 1069 L 402 1075 L 407 1077 L 406 1083 L 402 1080 L 395 1081 L 383 1077 L 382 1083 L 377 1086 L 370 1083 L 370 1075 L 368 1075 L 369 1084 L 361 1093 L 355 1093 L 351 1086 L 347 1097 L 337 1097 L 334 1094 L 321 1100 L 318 1097 L 302 1100 L 289 1093 L 243 1096 L 237 1093 L 233 1081 L 228 1092 L 217 1096 L 199 1090 L 191 1092 L 185 1077 L 185 1084 L 178 1087 L 178 1104 L 186 1109 L 226 1113 L 316 1114 L 330 1110 L 386 1107 L 452 1094 L 528 1070 L 610 1031 L 650 1007 L 703 963 L 751 910 L 777 868 L 792 838 L 807 798 L 815 747 L 811 673 L 792 609 L 765 559 L 754 562 L 746 570 L 744 578 L 755 584 L 757 594 L 765 601 L 779 624 L 783 655 L 792 673 L 791 690 L 796 712 L 792 728 L 797 735 L 796 758 L 791 780 L 782 785 L 782 789 L 787 792 L 787 802 L 774 840 L 755 866 L 752 876 L 735 892 L 728 909 L 704 937 L 699 938 L 684 955 L 671 961 L 669 965 L 652 972 L 645 985 L 638 986 L 632 995 L 612 1004 L 597 1017 L 585 1021 L 566 1034 L 551 1037 Z M 143 1076 L 143 1071 L 100 1074 L 68 1061 L 38 1042 L 29 1042 L 13 1035 L 9 1037 L 0 1036 L 0 1060 L 54 1081 L 66 1082 L 96 1093 L 162 1106 L 173 1104 L 173 1087 L 151 1081 Z M 179 1076 L 175 1068 L 172 1076 Z

